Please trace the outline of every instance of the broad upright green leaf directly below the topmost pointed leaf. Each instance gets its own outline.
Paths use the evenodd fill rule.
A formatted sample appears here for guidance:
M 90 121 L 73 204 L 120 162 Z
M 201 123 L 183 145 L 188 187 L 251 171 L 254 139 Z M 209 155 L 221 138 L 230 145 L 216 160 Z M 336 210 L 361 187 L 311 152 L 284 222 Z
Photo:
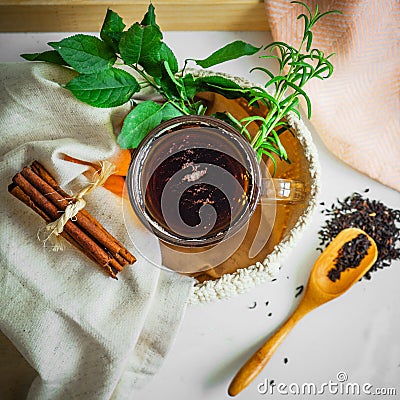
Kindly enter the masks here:
M 148 74 L 161 75 L 161 39 L 159 28 L 141 26 L 137 22 L 123 32 L 119 42 L 119 51 L 127 64 L 140 64 Z

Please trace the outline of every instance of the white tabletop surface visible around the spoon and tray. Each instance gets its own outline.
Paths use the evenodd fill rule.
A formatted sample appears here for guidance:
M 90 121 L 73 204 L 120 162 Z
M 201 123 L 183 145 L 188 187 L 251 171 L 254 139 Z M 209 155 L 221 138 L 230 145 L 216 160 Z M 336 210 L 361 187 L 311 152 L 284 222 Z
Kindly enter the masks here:
M 0 34 L 0 61 L 20 61 L 20 53 L 43 51 L 45 43 L 67 34 Z M 219 46 L 241 38 L 267 44 L 265 32 L 167 32 L 166 42 L 178 58 L 205 57 Z M 187 50 L 189 48 L 189 50 Z M 218 70 L 258 81 L 249 74 L 257 56 L 221 65 Z M 314 104 L 314 107 L 318 107 Z M 320 201 L 330 205 L 354 191 L 369 188 L 368 196 L 399 208 L 400 194 L 354 171 L 333 157 L 313 132 L 322 166 Z M 351 132 L 349 132 L 351 134 Z M 321 207 L 322 209 L 322 207 Z M 229 398 L 230 379 L 254 350 L 284 321 L 298 303 L 296 288 L 305 285 L 318 256 L 317 232 L 323 216 L 313 221 L 295 249 L 286 258 L 275 282 L 257 287 L 229 301 L 190 306 L 176 342 L 160 372 L 133 398 L 140 400 L 221 400 Z M 371 281 L 357 283 L 343 297 L 306 316 L 287 337 L 272 360 L 238 399 L 368 399 L 370 395 L 330 394 L 274 395 L 258 392 L 265 379 L 290 385 L 329 384 L 345 372 L 347 382 L 396 388 L 400 396 L 400 262 L 378 271 Z M 251 309 L 256 302 L 256 307 Z M 268 305 L 266 303 L 268 302 Z M 271 315 L 269 315 L 271 313 Z M 287 362 L 285 363 L 285 358 Z M 1 363 L 1 360 L 0 360 Z M 294 388 L 292 385 L 291 388 Z M 334 389 L 334 387 L 332 387 Z M 265 389 L 261 387 L 261 389 Z M 281 386 L 283 389 L 283 386 Z M 288 389 L 286 389 L 288 390 Z M 4 391 L 4 393 L 7 391 Z M 10 398 L 17 398 L 12 397 Z M 18 397 L 23 398 L 23 397 Z

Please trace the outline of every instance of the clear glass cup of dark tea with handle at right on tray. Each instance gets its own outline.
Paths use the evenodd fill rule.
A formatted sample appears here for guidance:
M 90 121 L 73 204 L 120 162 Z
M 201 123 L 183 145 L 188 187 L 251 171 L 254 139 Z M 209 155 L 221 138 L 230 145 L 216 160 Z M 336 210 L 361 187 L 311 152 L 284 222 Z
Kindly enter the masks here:
M 127 175 L 139 220 L 167 244 L 213 245 L 240 231 L 260 201 L 293 203 L 304 185 L 263 178 L 256 154 L 228 123 L 189 115 L 152 130 Z

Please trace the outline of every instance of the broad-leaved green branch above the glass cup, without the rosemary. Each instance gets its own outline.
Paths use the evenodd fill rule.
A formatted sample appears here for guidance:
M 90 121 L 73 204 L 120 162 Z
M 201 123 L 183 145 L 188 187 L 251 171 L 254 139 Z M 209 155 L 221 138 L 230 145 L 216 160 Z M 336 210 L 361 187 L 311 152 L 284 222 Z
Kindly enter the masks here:
M 163 42 L 154 11 L 150 3 L 143 20 L 126 29 L 122 18 L 108 9 L 100 38 L 78 34 L 50 42 L 51 51 L 22 55 L 30 61 L 46 61 L 74 69 L 78 74 L 65 88 L 94 107 L 122 105 L 145 87 L 152 87 L 162 95 L 164 104 L 144 101 L 128 114 L 118 136 L 122 148 L 136 148 L 161 121 L 179 115 L 204 114 L 205 105 L 195 99 L 199 92 L 213 91 L 227 98 L 250 100 L 247 90 L 230 79 L 195 77 L 185 69 L 189 62 L 209 68 L 255 54 L 261 48 L 238 40 L 205 59 L 186 59 L 179 70 L 173 51 Z

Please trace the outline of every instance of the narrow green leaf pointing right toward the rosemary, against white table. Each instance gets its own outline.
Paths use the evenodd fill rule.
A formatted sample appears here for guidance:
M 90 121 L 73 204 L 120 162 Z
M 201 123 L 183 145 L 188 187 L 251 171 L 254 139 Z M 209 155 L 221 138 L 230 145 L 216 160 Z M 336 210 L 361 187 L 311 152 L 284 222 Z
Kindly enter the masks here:
M 236 40 L 235 42 L 229 43 L 226 46 L 212 53 L 209 57 L 204 60 L 193 60 L 197 65 L 203 68 L 209 68 L 217 64 L 221 64 L 225 61 L 234 60 L 243 56 L 251 56 L 257 53 L 261 47 L 255 47 L 250 43 Z

